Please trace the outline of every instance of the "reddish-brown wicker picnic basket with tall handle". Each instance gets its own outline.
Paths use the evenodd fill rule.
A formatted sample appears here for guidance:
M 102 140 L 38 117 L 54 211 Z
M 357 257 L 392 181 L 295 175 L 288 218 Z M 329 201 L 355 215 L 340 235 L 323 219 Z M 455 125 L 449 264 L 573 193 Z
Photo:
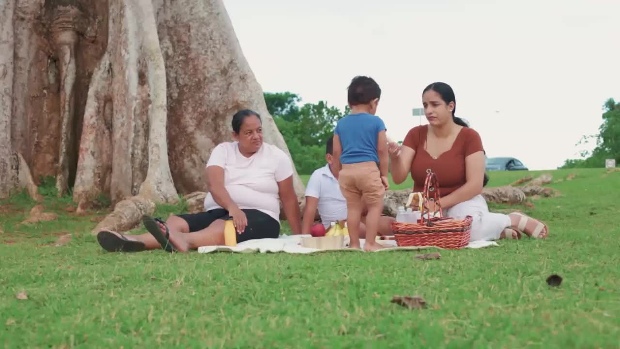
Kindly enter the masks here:
M 443 217 L 441 210 L 439 182 L 433 171 L 427 171 L 424 183 L 422 218 L 417 223 L 392 222 L 392 232 L 396 244 L 402 247 L 433 246 L 448 250 L 458 250 L 466 247 L 471 237 L 472 217 L 464 219 Z M 439 207 L 439 216 L 431 217 L 428 202 L 436 203 Z M 424 217 L 427 212 L 427 217 Z

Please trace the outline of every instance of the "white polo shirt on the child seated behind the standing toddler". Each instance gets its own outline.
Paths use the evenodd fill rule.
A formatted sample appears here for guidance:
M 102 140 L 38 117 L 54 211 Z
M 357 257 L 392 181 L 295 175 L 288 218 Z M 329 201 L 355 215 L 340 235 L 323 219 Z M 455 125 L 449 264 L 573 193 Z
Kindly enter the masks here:
M 312 173 L 306 186 L 306 196 L 319 199 L 319 215 L 325 227 L 330 222 L 347 219 L 347 200 L 342 196 L 338 179 L 332 174 L 329 164 Z

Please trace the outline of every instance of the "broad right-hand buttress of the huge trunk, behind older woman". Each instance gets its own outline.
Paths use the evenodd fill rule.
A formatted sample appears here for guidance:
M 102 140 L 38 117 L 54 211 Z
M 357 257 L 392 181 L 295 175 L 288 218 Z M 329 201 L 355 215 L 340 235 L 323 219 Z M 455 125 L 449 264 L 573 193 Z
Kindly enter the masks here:
M 232 140 L 232 115 L 239 109 L 257 111 L 265 142 L 290 156 L 223 2 L 159 2 L 157 32 L 166 61 L 170 168 L 176 187 L 183 193 L 208 190 L 203 168 L 218 143 Z M 296 173 L 294 185 L 303 196 Z

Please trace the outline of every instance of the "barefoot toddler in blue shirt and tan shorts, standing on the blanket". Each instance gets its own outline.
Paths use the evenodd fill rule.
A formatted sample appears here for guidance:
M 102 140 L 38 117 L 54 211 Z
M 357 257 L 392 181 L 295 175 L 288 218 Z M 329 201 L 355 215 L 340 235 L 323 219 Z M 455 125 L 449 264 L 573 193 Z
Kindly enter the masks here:
M 360 220 L 366 214 L 364 250 L 382 248 L 376 242 L 387 182 L 386 126 L 377 111 L 381 88 L 374 79 L 356 76 L 348 86 L 351 114 L 334 130 L 334 169 L 340 191 L 347 200 L 350 248 L 360 248 Z

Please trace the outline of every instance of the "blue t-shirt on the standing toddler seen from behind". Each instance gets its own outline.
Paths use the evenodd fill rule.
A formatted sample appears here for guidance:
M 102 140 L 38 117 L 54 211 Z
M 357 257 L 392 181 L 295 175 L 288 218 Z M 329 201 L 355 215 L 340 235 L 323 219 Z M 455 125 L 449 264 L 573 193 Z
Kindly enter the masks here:
M 340 138 L 340 163 L 379 163 L 377 137 L 386 129 L 383 120 L 373 114 L 350 114 L 339 120 L 334 134 Z

